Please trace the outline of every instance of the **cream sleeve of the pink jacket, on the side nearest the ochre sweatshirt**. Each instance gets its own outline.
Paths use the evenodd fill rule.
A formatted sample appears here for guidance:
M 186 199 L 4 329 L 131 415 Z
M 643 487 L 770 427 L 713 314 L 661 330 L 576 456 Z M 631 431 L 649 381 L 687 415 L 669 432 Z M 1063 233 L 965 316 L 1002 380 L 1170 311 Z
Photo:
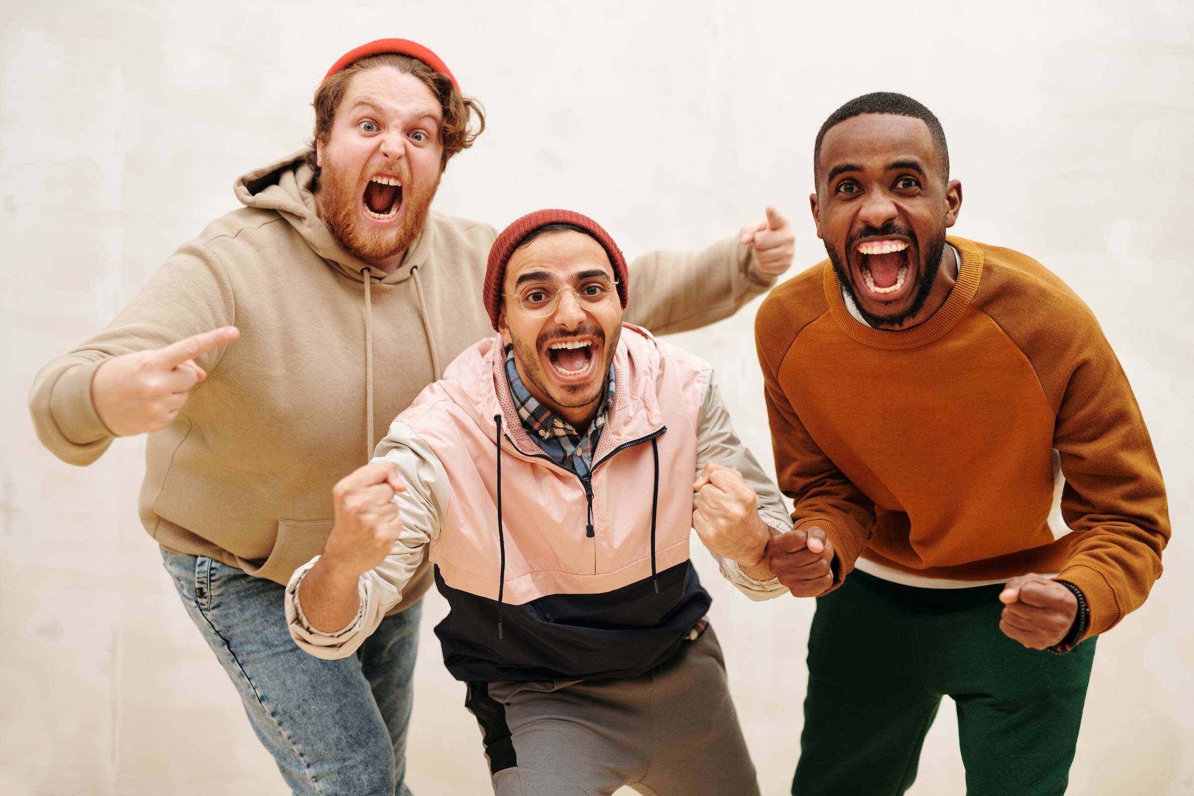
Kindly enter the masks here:
M 702 381 L 701 414 L 696 426 L 696 475 L 700 476 L 707 462 L 732 467 L 743 474 L 743 479 L 755 490 L 759 518 L 781 533 L 792 530 L 792 518 L 783 506 L 780 490 L 734 433 L 730 412 L 721 400 L 721 391 L 713 378 L 713 368 L 708 363 L 702 368 Z M 752 600 L 768 600 L 788 593 L 787 586 L 781 585 L 777 578 L 756 580 L 744 573 L 737 561 L 722 559 L 713 550 L 709 554 L 716 559 L 722 576 Z

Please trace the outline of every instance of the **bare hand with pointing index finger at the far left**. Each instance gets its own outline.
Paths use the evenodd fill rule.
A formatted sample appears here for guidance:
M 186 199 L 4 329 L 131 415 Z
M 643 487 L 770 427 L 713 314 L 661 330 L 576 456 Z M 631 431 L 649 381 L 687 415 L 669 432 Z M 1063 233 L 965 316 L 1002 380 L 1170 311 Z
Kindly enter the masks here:
M 165 348 L 112 357 L 91 380 L 91 402 L 117 437 L 160 431 L 174 421 L 191 388 L 208 377 L 195 358 L 240 337 L 235 326 L 179 340 Z

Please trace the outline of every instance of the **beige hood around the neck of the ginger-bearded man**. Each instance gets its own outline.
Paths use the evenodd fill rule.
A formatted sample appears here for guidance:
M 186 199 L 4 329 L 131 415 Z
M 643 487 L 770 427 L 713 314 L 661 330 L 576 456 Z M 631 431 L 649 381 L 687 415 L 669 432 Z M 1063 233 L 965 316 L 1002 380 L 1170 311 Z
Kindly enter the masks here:
M 281 160 L 248 172 L 233 184 L 236 198 L 247 208 L 272 210 L 285 218 L 295 232 L 330 266 L 355 282 L 364 282 L 364 270 L 380 274 L 376 267 L 350 254 L 340 246 L 336 236 L 322 222 L 315 210 L 315 195 L 310 192 L 310 180 L 314 169 L 307 159 L 310 148 L 287 155 Z M 410 278 L 412 269 L 426 259 L 430 248 L 430 234 L 424 226 L 423 232 L 411 243 L 402 264 L 393 273 L 374 278 L 374 282 L 393 284 Z

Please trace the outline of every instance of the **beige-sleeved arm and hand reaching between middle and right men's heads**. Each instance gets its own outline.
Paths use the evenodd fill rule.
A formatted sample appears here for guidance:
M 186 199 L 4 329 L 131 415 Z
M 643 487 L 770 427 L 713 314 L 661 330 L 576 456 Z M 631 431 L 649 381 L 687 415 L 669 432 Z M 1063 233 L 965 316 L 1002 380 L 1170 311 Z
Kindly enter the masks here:
M 654 334 L 695 329 L 730 317 L 792 265 L 795 233 L 774 208 L 767 221 L 701 252 L 652 252 L 629 264 L 624 320 Z

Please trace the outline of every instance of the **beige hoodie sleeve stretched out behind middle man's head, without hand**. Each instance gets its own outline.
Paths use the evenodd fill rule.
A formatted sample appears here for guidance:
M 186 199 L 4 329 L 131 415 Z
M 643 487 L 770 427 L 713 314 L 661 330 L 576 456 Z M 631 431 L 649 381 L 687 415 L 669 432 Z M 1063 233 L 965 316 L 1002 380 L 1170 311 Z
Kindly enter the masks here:
M 623 320 L 653 334 L 730 317 L 776 279 L 758 270 L 751 248 L 737 237 L 701 252 L 652 252 L 628 267 L 630 300 Z

